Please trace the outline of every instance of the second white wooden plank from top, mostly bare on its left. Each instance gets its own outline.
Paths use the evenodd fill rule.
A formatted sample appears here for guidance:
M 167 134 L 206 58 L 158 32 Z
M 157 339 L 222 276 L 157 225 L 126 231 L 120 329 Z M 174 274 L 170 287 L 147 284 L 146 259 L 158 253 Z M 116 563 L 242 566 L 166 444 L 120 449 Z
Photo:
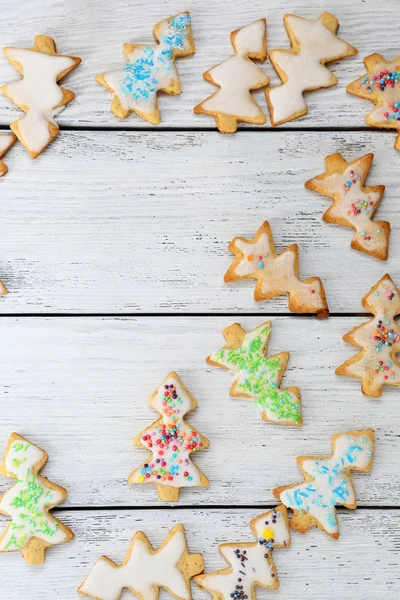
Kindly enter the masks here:
M 360 312 L 385 272 L 400 282 L 398 156 L 371 133 L 64 132 L 32 161 L 21 146 L 0 182 L 3 313 L 288 311 L 253 300 L 254 282 L 225 284 L 228 242 L 269 219 L 278 251 L 300 247 L 300 276 L 320 276 L 330 310 Z M 351 250 L 326 224 L 329 200 L 304 188 L 323 158 L 373 150 L 385 184 L 378 218 L 392 224 L 389 261 Z

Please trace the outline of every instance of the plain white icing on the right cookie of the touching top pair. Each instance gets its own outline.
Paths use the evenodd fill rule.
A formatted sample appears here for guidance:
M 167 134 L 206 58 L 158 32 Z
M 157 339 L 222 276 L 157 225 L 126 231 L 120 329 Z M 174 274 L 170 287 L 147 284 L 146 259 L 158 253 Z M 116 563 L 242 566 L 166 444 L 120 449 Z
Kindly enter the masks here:
M 322 17 L 309 21 L 290 15 L 287 26 L 293 31 L 300 50 L 298 54 L 271 51 L 274 63 L 287 75 L 285 83 L 268 91 L 276 124 L 294 118 L 297 113 L 304 114 L 307 104 L 303 92 L 332 85 L 332 74 L 321 61 L 341 57 L 349 49 L 346 42 L 325 27 Z

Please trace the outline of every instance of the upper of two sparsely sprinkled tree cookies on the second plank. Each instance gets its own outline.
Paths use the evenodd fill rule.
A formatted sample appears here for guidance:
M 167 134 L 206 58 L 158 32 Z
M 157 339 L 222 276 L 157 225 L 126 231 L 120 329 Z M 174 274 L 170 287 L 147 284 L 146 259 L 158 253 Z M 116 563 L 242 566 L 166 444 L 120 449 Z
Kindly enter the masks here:
M 341 154 L 331 154 L 325 158 L 328 170 L 305 186 L 334 200 L 322 218 L 326 223 L 355 229 L 352 248 L 387 260 L 390 223 L 372 220 L 385 186 L 364 187 L 373 159 L 373 154 L 366 154 L 346 162 Z

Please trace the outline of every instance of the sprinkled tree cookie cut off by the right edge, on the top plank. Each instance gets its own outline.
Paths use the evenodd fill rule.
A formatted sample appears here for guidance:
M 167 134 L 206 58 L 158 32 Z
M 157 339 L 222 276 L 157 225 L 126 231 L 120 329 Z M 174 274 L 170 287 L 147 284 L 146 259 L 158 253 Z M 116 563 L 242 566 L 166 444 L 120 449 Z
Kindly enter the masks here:
M 347 86 L 349 94 L 376 104 L 365 122 L 372 127 L 396 129 L 394 144 L 400 150 L 400 56 L 387 61 L 380 54 L 364 59 L 367 73 Z

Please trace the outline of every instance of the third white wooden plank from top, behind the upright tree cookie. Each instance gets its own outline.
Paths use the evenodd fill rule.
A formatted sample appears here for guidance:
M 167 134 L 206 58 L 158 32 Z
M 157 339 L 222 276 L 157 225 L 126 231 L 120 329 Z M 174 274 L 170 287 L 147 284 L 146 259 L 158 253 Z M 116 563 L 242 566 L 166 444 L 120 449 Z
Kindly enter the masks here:
M 240 321 L 250 330 L 263 318 Z M 44 474 L 68 488 L 66 506 L 162 506 L 153 486 L 127 478 L 146 458 L 132 439 L 157 418 L 147 399 L 176 370 L 199 402 L 188 422 L 210 440 L 195 461 L 211 481 L 179 505 L 274 503 L 274 487 L 301 481 L 297 455 L 328 453 L 332 434 L 371 427 L 376 456 L 371 473 L 355 475 L 359 504 L 398 506 L 399 392 L 365 398 L 358 381 L 334 375 L 351 356 L 342 334 L 360 321 L 273 320 L 269 352 L 291 353 L 283 385 L 302 394 L 298 428 L 262 421 L 252 402 L 230 398 L 230 374 L 206 364 L 233 319 L 3 318 L 0 449 L 14 430 L 46 449 Z M 1 478 L 0 493 L 9 485 Z

